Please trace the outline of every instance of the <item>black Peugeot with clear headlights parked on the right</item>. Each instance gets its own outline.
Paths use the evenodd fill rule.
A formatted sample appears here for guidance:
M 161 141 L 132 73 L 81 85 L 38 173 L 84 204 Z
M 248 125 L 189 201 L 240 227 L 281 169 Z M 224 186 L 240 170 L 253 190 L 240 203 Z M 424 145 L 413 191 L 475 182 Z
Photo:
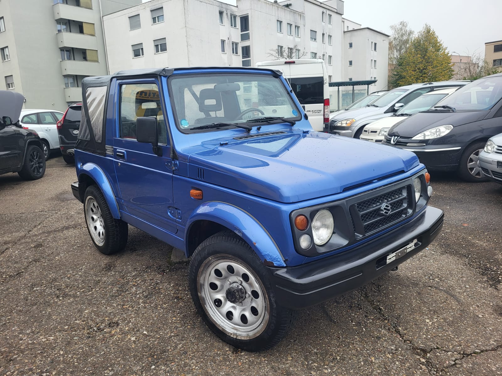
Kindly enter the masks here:
M 461 87 L 430 110 L 394 125 L 385 144 L 415 152 L 429 170 L 486 181 L 477 164 L 488 138 L 502 133 L 502 73 Z

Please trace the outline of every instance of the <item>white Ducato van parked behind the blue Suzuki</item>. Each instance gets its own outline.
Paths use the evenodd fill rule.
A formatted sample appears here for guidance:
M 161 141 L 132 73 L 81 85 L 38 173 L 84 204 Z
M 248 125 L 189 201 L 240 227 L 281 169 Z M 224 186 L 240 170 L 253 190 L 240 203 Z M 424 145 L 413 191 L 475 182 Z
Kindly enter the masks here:
M 329 123 L 328 73 L 321 59 L 271 60 L 256 63 L 258 68 L 276 69 L 283 73 L 314 130 L 322 132 Z

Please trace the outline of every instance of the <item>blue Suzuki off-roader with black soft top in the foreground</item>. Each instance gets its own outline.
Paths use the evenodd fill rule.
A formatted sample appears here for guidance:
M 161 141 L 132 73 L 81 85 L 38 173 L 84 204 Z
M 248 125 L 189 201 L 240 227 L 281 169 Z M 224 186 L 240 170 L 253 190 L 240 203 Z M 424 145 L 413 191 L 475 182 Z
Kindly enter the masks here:
M 296 310 L 442 228 L 414 153 L 313 131 L 279 71 L 121 71 L 82 93 L 71 188 L 92 242 L 120 251 L 131 225 L 183 250 L 197 311 L 233 346 L 271 348 Z

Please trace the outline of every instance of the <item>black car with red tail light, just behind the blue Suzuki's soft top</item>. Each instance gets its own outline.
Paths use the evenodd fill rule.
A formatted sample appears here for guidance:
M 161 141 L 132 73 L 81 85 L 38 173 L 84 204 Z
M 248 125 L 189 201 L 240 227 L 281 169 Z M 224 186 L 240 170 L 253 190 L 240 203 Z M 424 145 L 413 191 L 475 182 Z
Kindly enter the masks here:
M 82 103 L 73 103 L 68 107 L 63 118 L 56 123 L 59 135 L 61 154 L 66 163 L 75 163 L 75 143 L 77 142 L 78 129 L 80 128 L 80 116 Z

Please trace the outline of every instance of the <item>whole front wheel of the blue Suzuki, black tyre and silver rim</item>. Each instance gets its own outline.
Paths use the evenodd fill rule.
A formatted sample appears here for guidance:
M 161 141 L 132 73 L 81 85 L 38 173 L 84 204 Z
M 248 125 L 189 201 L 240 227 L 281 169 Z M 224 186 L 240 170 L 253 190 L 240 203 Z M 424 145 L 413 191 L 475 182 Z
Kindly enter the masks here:
M 223 231 L 192 255 L 190 292 L 206 325 L 225 342 L 248 351 L 275 346 L 296 312 L 278 306 L 270 273 L 242 238 Z

